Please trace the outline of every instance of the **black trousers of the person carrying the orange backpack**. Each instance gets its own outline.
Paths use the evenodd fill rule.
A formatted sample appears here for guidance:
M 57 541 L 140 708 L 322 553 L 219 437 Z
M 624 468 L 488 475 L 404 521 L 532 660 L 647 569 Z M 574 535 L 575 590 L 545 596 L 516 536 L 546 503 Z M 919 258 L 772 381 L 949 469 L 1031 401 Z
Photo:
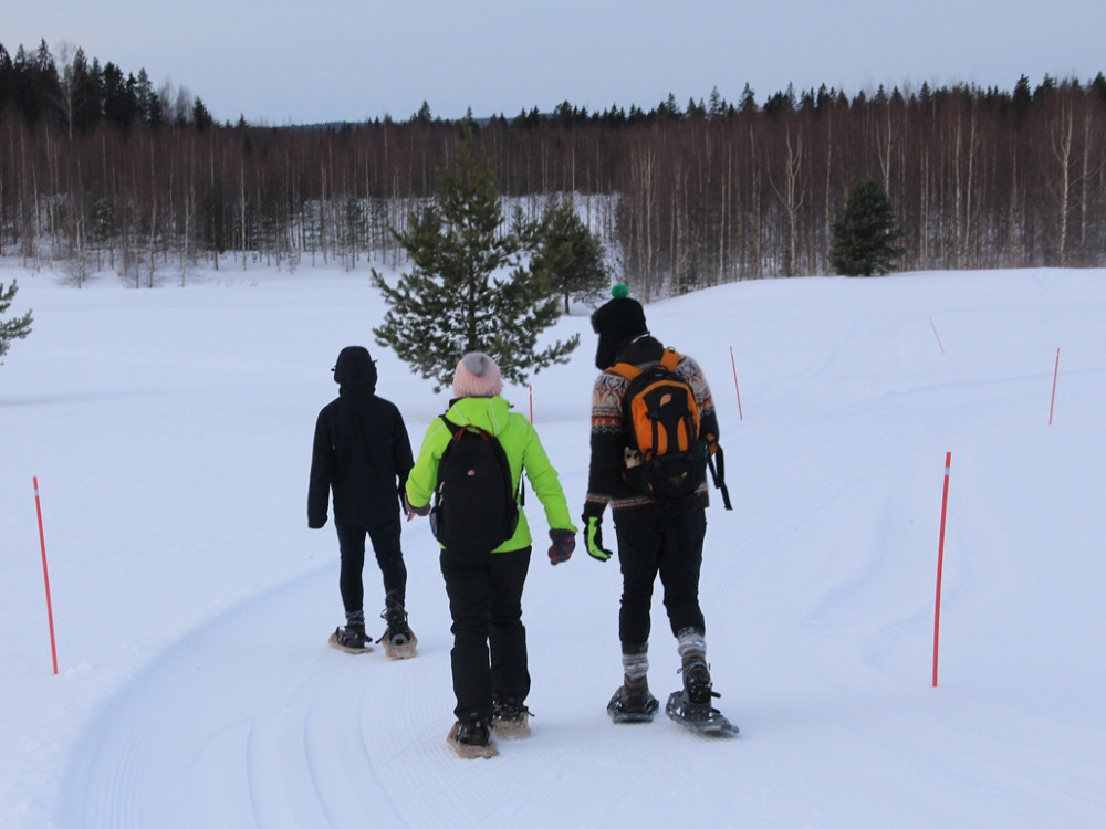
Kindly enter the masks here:
M 672 634 L 684 628 L 706 632 L 699 607 L 706 510 L 657 505 L 616 512 L 614 522 L 623 574 L 618 638 L 624 652 L 649 641 L 649 610 L 658 575 Z

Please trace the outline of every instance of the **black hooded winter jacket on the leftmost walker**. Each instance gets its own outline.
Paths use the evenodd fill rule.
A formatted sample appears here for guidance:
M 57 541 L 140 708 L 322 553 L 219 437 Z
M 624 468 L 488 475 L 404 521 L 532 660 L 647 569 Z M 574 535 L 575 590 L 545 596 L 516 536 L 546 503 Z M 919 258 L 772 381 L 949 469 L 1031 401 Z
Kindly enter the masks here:
M 334 366 L 340 395 L 315 421 L 309 527 L 326 523 L 331 491 L 334 520 L 342 524 L 378 525 L 400 508 L 414 465 L 411 444 L 399 409 L 376 396 L 376 366 L 365 348 L 342 349 Z

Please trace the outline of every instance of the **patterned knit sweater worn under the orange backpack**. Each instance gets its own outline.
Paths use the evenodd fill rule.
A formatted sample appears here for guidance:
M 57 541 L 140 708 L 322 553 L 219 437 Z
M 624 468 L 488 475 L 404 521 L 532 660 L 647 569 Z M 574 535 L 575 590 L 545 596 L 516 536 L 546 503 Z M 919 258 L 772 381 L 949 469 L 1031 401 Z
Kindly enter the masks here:
M 638 337 L 623 346 L 618 360 L 635 366 L 647 366 L 658 363 L 665 347 L 648 335 Z M 680 375 L 695 393 L 699 405 L 699 437 L 708 442 L 713 451 L 718 443 L 718 417 L 714 413 L 714 400 L 710 387 L 699 364 L 691 357 L 680 356 L 676 365 Z M 596 378 L 592 390 L 592 459 L 587 475 L 587 497 L 584 501 L 584 515 L 602 515 L 609 504 L 615 512 L 653 506 L 657 501 L 630 487 L 623 474 L 626 469 L 625 450 L 627 447 L 623 423 L 623 398 L 629 381 L 609 370 Z M 706 507 L 708 504 L 707 482 L 684 499 L 688 506 Z

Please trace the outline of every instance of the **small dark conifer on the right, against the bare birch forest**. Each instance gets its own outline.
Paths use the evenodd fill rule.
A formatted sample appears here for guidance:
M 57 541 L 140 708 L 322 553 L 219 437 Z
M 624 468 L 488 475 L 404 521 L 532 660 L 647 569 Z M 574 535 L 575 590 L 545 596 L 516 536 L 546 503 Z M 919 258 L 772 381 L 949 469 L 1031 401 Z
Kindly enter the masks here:
M 890 197 L 883 185 L 860 181 L 833 223 L 830 263 L 844 276 L 872 276 L 894 270 L 901 250 Z

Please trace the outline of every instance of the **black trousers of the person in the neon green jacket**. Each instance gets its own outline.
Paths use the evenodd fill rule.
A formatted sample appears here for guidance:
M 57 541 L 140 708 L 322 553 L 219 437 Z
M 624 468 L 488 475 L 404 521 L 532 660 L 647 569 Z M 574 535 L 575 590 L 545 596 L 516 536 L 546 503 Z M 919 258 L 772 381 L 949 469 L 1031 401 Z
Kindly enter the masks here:
M 494 700 L 530 693 L 522 589 L 530 547 L 510 553 L 441 550 L 441 576 L 453 623 L 453 695 L 458 720 L 488 718 Z

